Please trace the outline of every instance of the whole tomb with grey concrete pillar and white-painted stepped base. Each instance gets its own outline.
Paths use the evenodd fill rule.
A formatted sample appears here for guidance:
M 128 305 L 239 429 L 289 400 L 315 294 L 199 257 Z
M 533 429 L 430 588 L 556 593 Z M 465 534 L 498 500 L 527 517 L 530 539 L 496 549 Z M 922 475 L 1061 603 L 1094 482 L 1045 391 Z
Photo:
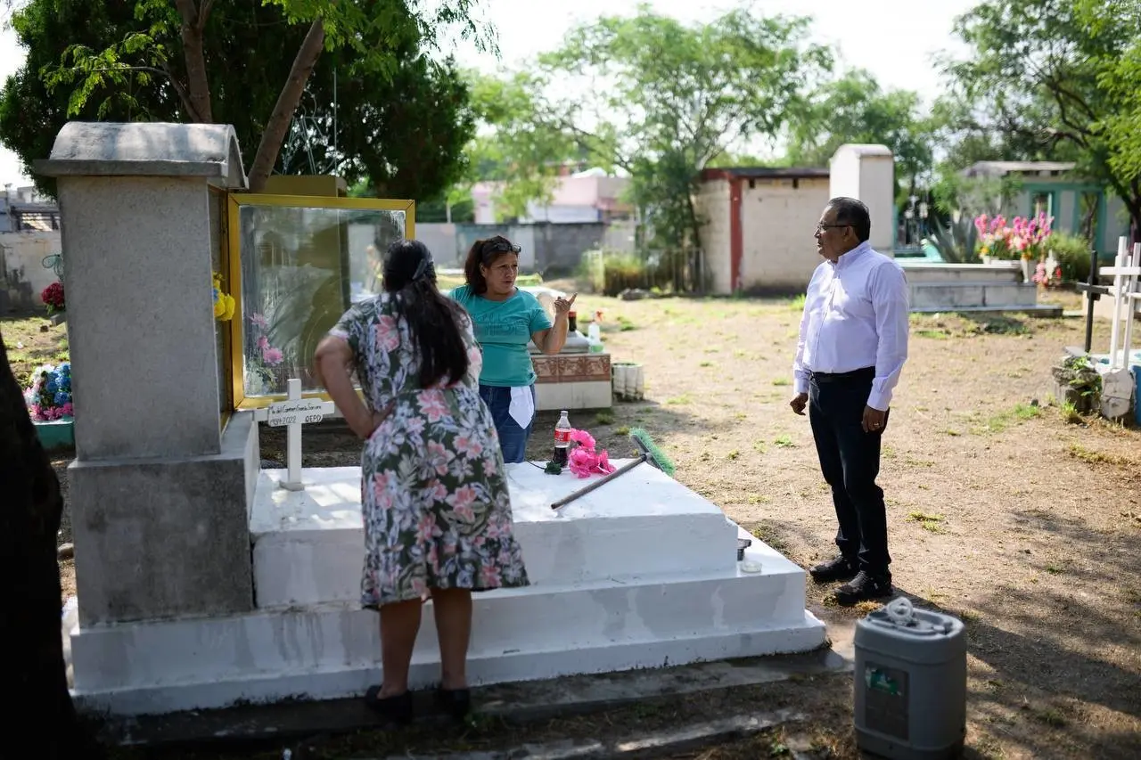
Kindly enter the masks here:
M 301 423 L 329 405 L 285 401 L 296 409 L 219 425 L 209 199 L 211 185 L 244 186 L 233 130 L 68 124 L 37 169 L 59 177 L 68 246 L 79 705 L 139 714 L 363 694 L 381 674 L 378 616 L 357 601 L 359 468 L 294 456 Z M 259 470 L 259 419 L 298 425 L 292 472 Z M 550 508 L 585 483 L 510 467 L 532 585 L 477 595 L 474 684 L 824 642 L 804 572 L 755 539 L 738 559 L 750 536 L 715 504 L 644 464 Z M 412 679 L 437 673 L 426 614 Z

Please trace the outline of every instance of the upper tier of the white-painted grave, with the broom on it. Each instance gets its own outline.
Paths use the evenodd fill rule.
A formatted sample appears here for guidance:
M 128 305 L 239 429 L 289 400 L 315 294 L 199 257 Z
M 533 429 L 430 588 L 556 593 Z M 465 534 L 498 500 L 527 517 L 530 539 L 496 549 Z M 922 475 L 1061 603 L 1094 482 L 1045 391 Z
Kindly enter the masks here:
M 699 577 L 736 564 L 737 526 L 654 467 L 640 466 L 559 510 L 551 503 L 588 479 L 547 475 L 526 462 L 507 469 L 532 583 Z M 299 493 L 274 488 L 278 474 L 261 472 L 250 517 L 258 607 L 356 601 L 364 552 L 361 468 L 308 469 Z

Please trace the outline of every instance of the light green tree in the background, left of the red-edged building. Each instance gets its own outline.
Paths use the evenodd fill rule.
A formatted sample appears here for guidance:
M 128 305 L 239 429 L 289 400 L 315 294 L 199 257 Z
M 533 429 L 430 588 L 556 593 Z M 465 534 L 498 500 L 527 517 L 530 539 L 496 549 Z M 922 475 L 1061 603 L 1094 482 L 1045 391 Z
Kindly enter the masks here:
M 699 172 L 787 113 L 831 67 L 804 18 L 737 9 L 686 25 L 639 6 L 572 29 L 524 82 L 532 116 L 569 136 L 592 165 L 632 178 L 655 245 L 699 248 Z

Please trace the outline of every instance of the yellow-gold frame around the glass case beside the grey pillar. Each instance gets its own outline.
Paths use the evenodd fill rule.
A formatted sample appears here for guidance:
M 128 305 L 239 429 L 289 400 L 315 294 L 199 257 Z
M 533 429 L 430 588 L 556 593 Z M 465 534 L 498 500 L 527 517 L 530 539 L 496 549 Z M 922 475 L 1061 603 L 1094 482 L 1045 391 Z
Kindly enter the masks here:
M 416 202 L 377 197 L 331 197 L 321 195 L 264 195 L 256 193 L 230 193 L 227 209 L 229 294 L 234 297 L 234 318 L 229 321 L 229 375 L 233 387 L 232 402 L 235 410 L 264 409 L 285 398 L 285 394 L 245 397 L 245 365 L 243 350 L 245 334 L 242 318 L 242 236 L 238 234 L 238 215 L 243 205 L 283 207 L 298 209 L 359 209 L 365 211 L 404 211 L 404 234 L 408 240 L 416 235 Z M 305 398 L 330 401 L 324 391 L 308 391 Z

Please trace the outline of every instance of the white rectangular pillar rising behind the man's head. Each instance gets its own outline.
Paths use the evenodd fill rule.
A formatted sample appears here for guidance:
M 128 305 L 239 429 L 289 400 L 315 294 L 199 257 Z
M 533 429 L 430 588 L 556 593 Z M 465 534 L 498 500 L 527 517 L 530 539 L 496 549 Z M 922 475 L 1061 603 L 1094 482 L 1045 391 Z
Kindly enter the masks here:
M 863 201 L 872 213 L 872 248 L 892 256 L 896 248 L 896 159 L 884 145 L 841 145 L 832 156 L 832 197 Z

